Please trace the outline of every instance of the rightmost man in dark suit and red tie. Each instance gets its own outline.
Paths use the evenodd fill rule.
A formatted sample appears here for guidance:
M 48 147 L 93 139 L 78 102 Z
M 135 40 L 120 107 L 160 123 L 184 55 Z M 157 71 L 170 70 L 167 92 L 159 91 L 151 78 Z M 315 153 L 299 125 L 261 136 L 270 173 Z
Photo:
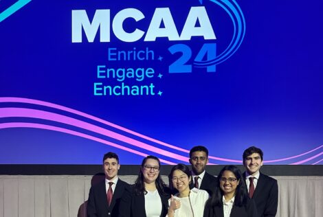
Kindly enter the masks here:
M 245 182 L 249 197 L 254 200 L 260 217 L 274 217 L 278 207 L 277 180 L 259 170 L 263 165 L 263 151 L 254 146 L 243 152 L 243 165 L 246 172 Z

